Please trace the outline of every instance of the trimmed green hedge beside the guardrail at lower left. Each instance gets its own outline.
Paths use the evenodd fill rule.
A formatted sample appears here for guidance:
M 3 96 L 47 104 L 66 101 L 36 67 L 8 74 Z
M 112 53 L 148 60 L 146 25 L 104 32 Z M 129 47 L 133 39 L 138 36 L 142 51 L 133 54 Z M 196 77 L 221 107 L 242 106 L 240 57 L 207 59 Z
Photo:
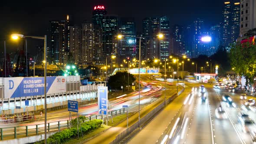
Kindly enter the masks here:
M 102 122 L 103 122 L 102 120 L 97 120 L 97 119 L 92 121 L 85 121 L 84 123 L 81 123 L 82 132 L 87 133 L 89 131 L 100 128 L 102 125 Z M 79 133 L 81 133 L 81 128 L 79 127 Z M 56 143 L 56 141 L 58 142 L 58 144 L 61 144 L 67 139 L 71 137 L 76 137 L 76 136 L 77 136 L 77 125 L 72 125 L 71 128 L 57 132 L 56 134 L 53 134 L 52 136 L 50 136 L 47 139 L 47 144 L 50 144 L 51 142 Z M 44 144 L 44 141 L 39 141 L 34 144 Z

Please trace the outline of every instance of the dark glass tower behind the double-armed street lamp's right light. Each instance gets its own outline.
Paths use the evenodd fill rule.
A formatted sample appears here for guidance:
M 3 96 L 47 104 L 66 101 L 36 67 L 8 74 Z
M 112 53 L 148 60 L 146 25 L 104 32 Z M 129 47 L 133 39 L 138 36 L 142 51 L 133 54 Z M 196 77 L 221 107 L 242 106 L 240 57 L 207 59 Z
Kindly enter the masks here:
M 167 19 L 167 16 L 162 16 L 159 18 L 159 33 L 163 34 L 164 37 L 160 39 L 159 47 L 159 59 L 169 58 L 169 49 L 170 49 L 170 22 Z

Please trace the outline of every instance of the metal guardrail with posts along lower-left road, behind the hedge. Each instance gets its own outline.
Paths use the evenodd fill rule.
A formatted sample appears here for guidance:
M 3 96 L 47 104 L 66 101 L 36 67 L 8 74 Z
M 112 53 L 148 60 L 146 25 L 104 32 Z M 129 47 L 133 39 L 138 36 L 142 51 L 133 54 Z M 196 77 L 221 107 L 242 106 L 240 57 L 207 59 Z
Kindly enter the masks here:
M 118 115 L 122 113 L 125 113 L 125 108 L 109 111 L 108 115 L 110 114 Z M 93 116 L 83 115 L 83 116 L 88 117 L 87 121 L 90 121 L 93 119 L 102 119 L 102 115 L 93 115 Z M 104 119 L 105 117 L 106 116 L 104 116 Z M 6 123 L 2 122 L 0 124 L 6 124 Z M 64 128 L 69 128 L 69 127 L 70 127 L 69 120 L 50 122 L 50 123 L 47 123 L 47 132 L 60 131 Z M 39 134 L 44 134 L 44 124 L 0 128 L 0 140 L 28 137 L 28 136 L 39 135 Z

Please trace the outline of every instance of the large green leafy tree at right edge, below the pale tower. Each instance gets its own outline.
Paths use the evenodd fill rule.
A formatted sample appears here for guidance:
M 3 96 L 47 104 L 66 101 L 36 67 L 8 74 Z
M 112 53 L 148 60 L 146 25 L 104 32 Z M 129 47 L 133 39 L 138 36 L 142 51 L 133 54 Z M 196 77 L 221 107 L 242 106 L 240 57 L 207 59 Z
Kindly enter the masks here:
M 231 66 L 240 75 L 246 76 L 250 82 L 256 76 L 256 45 L 249 42 L 233 45 L 230 50 Z

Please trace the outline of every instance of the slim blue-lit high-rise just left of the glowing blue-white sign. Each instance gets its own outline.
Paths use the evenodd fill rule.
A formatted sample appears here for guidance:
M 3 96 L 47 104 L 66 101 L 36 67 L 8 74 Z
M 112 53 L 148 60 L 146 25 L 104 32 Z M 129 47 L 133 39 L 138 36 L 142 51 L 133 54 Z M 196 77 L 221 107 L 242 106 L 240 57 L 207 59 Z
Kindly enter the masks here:
M 195 58 L 200 55 L 199 53 L 199 43 L 202 35 L 202 29 L 203 29 L 203 20 L 197 18 L 194 20 L 193 27 L 192 27 L 192 36 L 193 36 L 193 42 L 192 42 L 192 49 L 191 49 L 191 57 Z

